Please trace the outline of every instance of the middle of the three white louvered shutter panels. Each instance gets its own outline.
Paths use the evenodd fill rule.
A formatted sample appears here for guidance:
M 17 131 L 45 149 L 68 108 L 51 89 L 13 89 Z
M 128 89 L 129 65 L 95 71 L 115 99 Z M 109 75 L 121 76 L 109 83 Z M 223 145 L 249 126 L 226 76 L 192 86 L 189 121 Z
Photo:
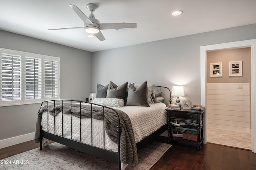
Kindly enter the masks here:
M 25 99 L 41 99 L 41 59 L 26 57 L 25 61 Z

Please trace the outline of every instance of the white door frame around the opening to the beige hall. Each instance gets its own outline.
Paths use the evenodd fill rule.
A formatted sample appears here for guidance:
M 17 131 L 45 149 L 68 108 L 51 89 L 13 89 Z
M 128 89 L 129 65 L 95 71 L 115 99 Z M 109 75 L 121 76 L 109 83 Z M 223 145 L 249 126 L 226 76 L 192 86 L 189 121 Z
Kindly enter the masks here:
M 252 127 L 252 152 L 256 153 L 256 39 L 206 45 L 200 47 L 200 73 L 201 73 L 201 105 L 206 106 L 206 80 L 207 65 L 206 52 L 214 50 L 251 47 L 251 127 Z M 255 93 L 254 93 L 255 92 Z M 204 144 L 206 144 L 206 114 L 204 116 Z M 254 134 L 255 133 L 255 134 Z

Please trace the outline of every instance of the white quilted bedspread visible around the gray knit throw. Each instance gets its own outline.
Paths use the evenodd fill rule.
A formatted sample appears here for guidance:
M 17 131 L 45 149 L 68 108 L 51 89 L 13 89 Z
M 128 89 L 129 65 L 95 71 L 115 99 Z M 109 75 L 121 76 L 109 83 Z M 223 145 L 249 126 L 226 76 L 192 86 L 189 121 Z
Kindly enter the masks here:
M 167 121 L 166 105 L 163 103 L 150 104 L 150 107 L 124 106 L 112 108 L 124 111 L 130 117 L 136 143 L 162 127 Z M 49 114 L 47 121 L 47 112 L 44 112 L 42 115 L 42 130 L 62 136 L 62 119 L 63 136 L 69 139 L 72 136 L 73 140 L 80 141 L 80 118 L 78 117 L 59 113 L 55 116 L 54 129 L 54 117 Z M 71 121 L 72 127 L 70 127 Z M 48 129 L 47 124 L 49 124 Z M 81 142 L 118 152 L 118 145 L 108 138 L 103 127 L 103 121 L 92 119 L 91 123 L 91 119 L 81 119 Z M 105 134 L 105 143 L 103 134 Z

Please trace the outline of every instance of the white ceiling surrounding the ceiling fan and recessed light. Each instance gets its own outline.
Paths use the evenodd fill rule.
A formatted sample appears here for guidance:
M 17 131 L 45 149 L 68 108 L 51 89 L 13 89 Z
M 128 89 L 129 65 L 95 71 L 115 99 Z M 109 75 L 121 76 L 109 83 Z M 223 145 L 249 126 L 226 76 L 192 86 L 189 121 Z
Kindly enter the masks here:
M 89 17 L 86 4 L 98 5 L 100 23 L 137 23 L 137 28 L 102 30 L 88 38 L 83 21 L 68 6 Z M 181 16 L 172 16 L 182 10 Z M 161 39 L 256 23 L 256 0 L 0 0 L 0 29 L 86 51 L 102 51 Z

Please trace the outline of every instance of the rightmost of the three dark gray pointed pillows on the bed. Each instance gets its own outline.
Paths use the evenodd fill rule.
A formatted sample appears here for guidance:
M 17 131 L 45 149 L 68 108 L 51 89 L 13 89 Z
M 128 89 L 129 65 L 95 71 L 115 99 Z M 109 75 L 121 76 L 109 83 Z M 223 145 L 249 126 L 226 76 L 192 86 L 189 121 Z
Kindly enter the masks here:
M 134 86 L 134 84 L 129 85 L 128 96 L 126 106 L 147 106 L 147 81 L 142 83 L 138 88 Z

